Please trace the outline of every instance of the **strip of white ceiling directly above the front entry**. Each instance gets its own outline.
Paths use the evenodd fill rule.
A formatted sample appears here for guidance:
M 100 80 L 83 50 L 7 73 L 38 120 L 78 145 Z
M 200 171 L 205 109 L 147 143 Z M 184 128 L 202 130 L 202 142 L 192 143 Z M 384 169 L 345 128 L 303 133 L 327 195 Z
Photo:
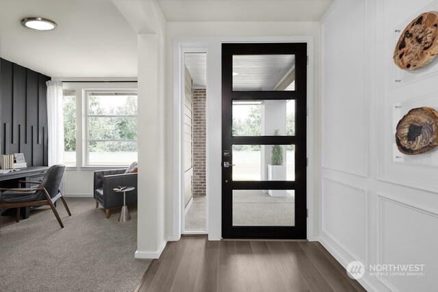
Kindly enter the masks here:
M 157 0 L 167 21 L 319 21 L 333 0 Z

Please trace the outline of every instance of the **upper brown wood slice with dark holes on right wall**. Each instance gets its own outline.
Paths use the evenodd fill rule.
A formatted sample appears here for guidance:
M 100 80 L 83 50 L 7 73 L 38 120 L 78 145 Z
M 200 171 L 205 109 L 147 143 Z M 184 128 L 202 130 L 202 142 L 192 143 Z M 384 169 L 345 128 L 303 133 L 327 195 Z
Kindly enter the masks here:
M 424 12 L 402 31 L 394 51 L 394 62 L 403 70 L 420 69 L 438 53 L 438 12 Z

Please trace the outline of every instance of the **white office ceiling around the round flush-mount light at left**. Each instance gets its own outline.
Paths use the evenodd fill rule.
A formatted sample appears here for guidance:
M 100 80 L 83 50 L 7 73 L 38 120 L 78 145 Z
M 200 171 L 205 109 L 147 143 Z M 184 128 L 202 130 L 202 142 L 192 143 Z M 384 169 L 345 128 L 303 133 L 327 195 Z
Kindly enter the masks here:
M 26 29 L 28 16 L 57 29 Z M 51 77 L 136 77 L 137 34 L 111 1 L 0 0 L 0 56 Z

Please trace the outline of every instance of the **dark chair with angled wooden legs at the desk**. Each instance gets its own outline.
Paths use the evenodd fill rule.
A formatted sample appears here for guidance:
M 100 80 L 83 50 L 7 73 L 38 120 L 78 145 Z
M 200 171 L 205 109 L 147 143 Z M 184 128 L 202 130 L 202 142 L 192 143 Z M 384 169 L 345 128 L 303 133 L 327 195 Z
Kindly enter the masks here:
M 61 199 L 68 215 L 71 216 L 66 200 L 64 200 L 64 195 L 60 191 L 61 178 L 64 174 L 65 168 L 65 165 L 53 165 L 51 168 L 49 168 L 49 170 L 47 170 L 46 174 L 42 178 L 42 181 L 21 182 L 39 183 L 38 187 L 17 189 L 0 188 L 0 210 L 16 208 L 18 222 L 21 207 L 49 205 L 53 211 L 53 214 L 55 214 L 57 222 L 60 223 L 61 228 L 64 228 L 60 215 L 58 215 L 53 203 L 55 203 L 57 199 Z

